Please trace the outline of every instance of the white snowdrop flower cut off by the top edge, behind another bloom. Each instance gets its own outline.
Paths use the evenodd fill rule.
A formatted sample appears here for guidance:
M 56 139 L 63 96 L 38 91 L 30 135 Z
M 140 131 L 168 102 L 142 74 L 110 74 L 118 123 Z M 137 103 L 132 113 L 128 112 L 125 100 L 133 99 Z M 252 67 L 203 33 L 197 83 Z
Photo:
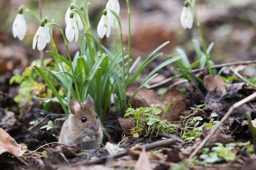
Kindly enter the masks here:
M 114 20 L 116 20 L 116 17 L 112 14 L 110 11 L 112 9 L 117 15 L 119 15 L 120 12 L 120 5 L 118 0 L 109 0 L 106 5 L 106 10 L 108 10 L 108 17 L 111 20 L 111 27 L 114 25 Z M 117 22 L 115 22 L 117 24 Z

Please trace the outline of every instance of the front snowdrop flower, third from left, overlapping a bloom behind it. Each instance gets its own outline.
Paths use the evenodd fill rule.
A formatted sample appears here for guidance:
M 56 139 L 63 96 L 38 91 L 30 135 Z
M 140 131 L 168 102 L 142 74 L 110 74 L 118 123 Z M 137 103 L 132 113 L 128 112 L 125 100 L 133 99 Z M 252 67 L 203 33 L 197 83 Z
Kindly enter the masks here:
M 70 12 L 70 18 L 67 22 L 66 27 L 66 37 L 69 42 L 72 42 L 75 37 L 75 41 L 77 42 L 79 36 L 79 30 L 76 25 L 76 19 L 73 12 Z

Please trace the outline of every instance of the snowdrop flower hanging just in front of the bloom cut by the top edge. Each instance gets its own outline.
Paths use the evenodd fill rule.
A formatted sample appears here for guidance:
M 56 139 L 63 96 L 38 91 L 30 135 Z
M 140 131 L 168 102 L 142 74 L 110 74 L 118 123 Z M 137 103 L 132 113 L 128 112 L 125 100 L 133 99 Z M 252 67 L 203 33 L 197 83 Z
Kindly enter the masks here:
M 108 16 L 108 13 L 111 11 L 107 11 L 104 9 L 102 17 L 99 21 L 98 27 L 97 27 L 97 32 L 99 37 L 103 38 L 106 34 L 106 37 L 110 37 L 110 31 L 111 31 L 111 23 L 110 23 L 110 18 Z

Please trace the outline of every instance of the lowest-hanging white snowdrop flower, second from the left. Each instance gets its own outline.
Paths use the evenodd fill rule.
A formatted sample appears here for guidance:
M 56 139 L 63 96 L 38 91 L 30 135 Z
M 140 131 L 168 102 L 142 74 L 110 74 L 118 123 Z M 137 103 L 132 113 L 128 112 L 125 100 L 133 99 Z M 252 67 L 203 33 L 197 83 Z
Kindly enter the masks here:
M 38 46 L 38 50 L 41 51 L 45 48 L 47 43 L 46 33 L 45 33 L 45 22 L 41 20 L 40 27 L 38 31 L 35 33 L 35 37 L 33 39 L 33 49 L 35 50 L 35 46 Z

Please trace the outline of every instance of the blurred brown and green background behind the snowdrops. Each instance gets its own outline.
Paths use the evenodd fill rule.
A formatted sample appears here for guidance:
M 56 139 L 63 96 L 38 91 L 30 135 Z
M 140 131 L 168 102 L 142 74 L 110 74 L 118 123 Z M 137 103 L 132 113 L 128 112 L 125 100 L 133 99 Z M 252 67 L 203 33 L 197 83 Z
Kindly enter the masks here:
M 9 79 L 14 74 L 21 74 L 24 68 L 35 59 L 39 59 L 39 51 L 32 49 L 32 40 L 38 30 L 39 23 L 26 12 L 26 37 L 23 41 L 12 35 L 12 24 L 18 8 L 25 6 L 39 13 L 42 17 L 61 25 L 65 30 L 64 15 L 70 0 L 0 0 L 0 91 L 9 92 Z M 90 23 L 93 34 L 96 34 L 102 11 L 107 0 L 77 0 L 76 3 L 88 4 Z M 125 0 L 119 0 L 120 18 L 124 41 L 128 38 L 128 16 Z M 199 0 L 198 17 L 201 22 L 207 46 L 214 42 L 210 57 L 215 64 L 254 60 L 256 59 L 256 1 L 255 0 Z M 183 0 L 131 0 L 131 58 L 147 57 L 155 48 L 166 41 L 170 44 L 163 48 L 165 54 L 177 56 L 176 48 L 186 51 L 191 62 L 195 61 L 195 41 L 200 41 L 195 20 L 192 29 L 184 30 L 180 25 L 180 14 L 184 6 Z M 191 10 L 192 12 L 192 10 Z M 119 34 L 119 29 L 117 29 Z M 53 37 L 58 51 L 67 56 L 63 38 L 60 32 L 53 28 Z M 100 39 L 99 39 L 100 40 Z M 120 38 L 118 38 L 120 40 Z M 111 51 L 114 51 L 114 36 L 111 30 L 110 38 L 100 40 Z M 118 42 L 119 48 L 121 47 Z M 78 42 L 69 43 L 72 57 L 79 50 Z M 50 50 L 47 45 L 45 50 Z M 126 48 L 127 49 L 127 48 Z M 45 53 L 45 52 L 44 52 Z M 44 57 L 50 57 L 45 53 Z M 145 74 L 166 60 L 158 58 L 145 70 Z M 157 81 L 170 75 L 168 66 L 160 71 Z M 255 65 L 247 67 L 249 76 L 256 76 Z M 16 95 L 17 93 L 11 93 Z

